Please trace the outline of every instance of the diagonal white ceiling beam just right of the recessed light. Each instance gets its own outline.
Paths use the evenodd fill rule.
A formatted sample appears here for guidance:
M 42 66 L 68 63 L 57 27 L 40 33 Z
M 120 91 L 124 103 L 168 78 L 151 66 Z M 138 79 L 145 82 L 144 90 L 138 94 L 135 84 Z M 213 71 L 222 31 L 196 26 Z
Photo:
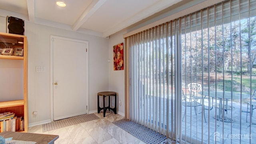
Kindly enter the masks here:
M 78 30 L 78 28 L 80 28 L 80 26 L 82 26 L 84 22 L 86 22 L 86 20 L 88 20 L 88 18 L 90 18 L 90 16 L 92 16 L 92 14 L 94 14 L 94 12 L 96 12 L 96 10 L 98 10 L 100 6 L 102 6 L 105 2 L 106 0 L 92 0 L 90 5 L 84 10 L 84 12 L 76 20 L 76 22 L 72 26 L 72 30 L 74 31 Z

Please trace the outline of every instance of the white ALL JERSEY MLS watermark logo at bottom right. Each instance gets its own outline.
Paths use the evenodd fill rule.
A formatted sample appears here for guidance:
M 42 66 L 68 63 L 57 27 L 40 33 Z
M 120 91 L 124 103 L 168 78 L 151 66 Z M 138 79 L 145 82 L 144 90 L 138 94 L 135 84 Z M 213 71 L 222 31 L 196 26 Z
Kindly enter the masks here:
M 214 132 L 214 141 L 218 142 L 226 139 L 252 139 L 252 134 L 220 134 L 220 132 Z

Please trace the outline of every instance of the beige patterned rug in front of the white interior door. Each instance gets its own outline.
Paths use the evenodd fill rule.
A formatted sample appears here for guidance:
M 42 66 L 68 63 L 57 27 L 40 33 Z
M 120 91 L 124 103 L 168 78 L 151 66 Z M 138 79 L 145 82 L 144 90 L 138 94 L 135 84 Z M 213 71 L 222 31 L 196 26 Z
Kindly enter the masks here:
M 95 114 L 84 114 L 81 116 L 75 116 L 72 118 L 66 118 L 66 119 L 62 119 L 62 120 L 56 120 L 47 124 L 43 124 L 43 132 L 49 131 L 49 130 L 55 130 L 58 128 L 63 128 L 66 126 L 72 126 L 75 124 L 80 124 L 83 122 L 88 122 L 91 120 L 96 120 L 99 119 L 98 116 L 96 116 Z

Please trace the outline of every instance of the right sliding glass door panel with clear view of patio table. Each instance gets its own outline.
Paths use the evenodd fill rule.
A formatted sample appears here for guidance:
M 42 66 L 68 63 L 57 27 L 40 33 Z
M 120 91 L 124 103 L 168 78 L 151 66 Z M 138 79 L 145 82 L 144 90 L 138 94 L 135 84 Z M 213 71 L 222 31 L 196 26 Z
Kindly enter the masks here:
M 189 140 L 244 144 L 256 138 L 248 114 L 256 89 L 254 6 L 225 1 L 182 18 L 182 88 L 201 104 L 196 112 L 184 106 L 182 134 Z M 201 88 L 192 92 L 190 84 Z

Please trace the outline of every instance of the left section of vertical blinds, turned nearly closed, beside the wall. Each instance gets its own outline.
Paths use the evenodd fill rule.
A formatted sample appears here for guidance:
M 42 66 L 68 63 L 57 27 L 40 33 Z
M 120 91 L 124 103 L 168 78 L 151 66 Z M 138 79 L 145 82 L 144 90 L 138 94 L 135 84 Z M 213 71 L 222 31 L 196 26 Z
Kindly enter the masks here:
M 178 23 L 167 22 L 126 38 L 130 119 L 166 136 L 179 129 L 180 92 L 178 86 L 173 87 L 181 78 L 176 70 L 181 67 L 175 63 L 181 54 L 175 49 L 179 44 Z M 178 135 L 170 134 L 173 138 Z

